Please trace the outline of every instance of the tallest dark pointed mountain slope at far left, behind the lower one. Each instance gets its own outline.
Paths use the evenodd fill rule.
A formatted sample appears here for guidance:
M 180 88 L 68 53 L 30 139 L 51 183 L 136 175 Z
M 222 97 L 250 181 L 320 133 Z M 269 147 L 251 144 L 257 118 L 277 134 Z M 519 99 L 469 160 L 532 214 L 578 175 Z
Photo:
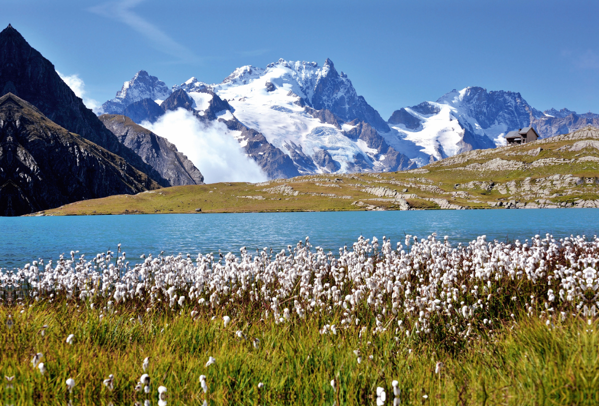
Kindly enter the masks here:
M 54 65 L 8 25 L 0 32 L 0 96 L 13 93 L 68 131 L 123 157 L 162 186 L 168 182 L 104 127 L 59 77 Z

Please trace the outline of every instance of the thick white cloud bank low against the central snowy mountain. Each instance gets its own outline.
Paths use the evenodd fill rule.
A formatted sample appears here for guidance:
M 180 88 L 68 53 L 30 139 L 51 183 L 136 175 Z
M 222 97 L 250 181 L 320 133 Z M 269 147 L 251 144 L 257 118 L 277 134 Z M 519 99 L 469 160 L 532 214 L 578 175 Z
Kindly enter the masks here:
M 141 126 L 175 144 L 204 175 L 205 183 L 268 180 L 258 163 L 247 157 L 223 123 L 205 125 L 189 111 L 167 111 L 157 122 Z

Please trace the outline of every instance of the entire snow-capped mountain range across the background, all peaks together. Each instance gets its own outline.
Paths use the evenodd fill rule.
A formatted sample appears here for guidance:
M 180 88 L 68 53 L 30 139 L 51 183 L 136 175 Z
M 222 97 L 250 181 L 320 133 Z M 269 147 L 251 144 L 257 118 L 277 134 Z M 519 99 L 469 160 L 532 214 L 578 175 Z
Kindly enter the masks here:
M 222 83 L 192 77 L 172 90 L 140 71 L 103 107 L 137 123 L 180 107 L 204 123 L 223 122 L 269 177 L 409 169 L 504 145 L 507 132 L 531 125 L 541 137 L 599 126 L 597 114 L 542 113 L 520 93 L 482 87 L 401 108 L 385 122 L 330 59 L 242 66 Z

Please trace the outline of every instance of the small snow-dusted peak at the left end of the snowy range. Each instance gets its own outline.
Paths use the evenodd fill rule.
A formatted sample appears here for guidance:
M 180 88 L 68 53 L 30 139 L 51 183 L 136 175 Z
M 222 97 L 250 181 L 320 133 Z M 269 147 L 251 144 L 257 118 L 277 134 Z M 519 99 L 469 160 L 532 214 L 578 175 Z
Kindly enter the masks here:
M 146 71 L 139 71 L 123 84 L 114 99 L 102 104 L 96 114 L 123 114 L 130 104 L 143 99 L 152 99 L 160 104 L 171 93 L 172 90 L 162 80 L 150 76 Z

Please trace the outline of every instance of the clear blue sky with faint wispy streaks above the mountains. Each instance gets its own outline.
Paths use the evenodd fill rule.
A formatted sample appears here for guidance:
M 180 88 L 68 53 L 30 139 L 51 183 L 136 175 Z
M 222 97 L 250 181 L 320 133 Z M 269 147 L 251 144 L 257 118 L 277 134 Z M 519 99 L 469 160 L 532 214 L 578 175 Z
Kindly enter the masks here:
M 168 86 L 238 66 L 331 58 L 384 119 L 452 89 L 599 113 L 599 2 L 4 0 L 11 23 L 87 98 L 139 69 Z

